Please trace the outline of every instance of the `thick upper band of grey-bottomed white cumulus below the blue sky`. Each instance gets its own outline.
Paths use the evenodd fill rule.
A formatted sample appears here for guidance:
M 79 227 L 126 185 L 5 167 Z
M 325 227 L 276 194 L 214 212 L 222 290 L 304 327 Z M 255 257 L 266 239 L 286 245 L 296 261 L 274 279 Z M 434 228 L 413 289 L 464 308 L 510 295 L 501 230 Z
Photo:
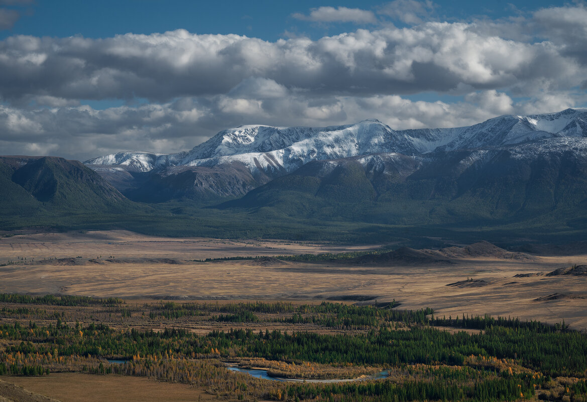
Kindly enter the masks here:
M 12 36 L 0 42 L 0 93 L 12 103 L 31 96 L 166 102 L 225 94 L 259 77 L 324 96 L 454 92 L 516 85 L 567 86 L 585 76 L 565 46 L 483 36 L 465 23 L 267 42 L 238 35 L 178 30 L 87 39 Z

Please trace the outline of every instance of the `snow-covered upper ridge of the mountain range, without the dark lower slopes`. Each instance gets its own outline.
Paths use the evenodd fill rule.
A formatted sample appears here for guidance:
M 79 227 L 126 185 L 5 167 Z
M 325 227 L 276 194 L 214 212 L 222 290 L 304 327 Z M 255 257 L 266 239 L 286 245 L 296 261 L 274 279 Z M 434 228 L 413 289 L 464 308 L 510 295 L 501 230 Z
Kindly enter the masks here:
M 393 130 L 378 120 L 330 127 L 241 126 L 220 131 L 210 140 L 177 154 L 127 151 L 85 161 L 147 172 L 171 166 L 207 166 L 239 162 L 251 172 L 291 172 L 312 160 L 376 153 L 408 156 L 436 150 L 487 148 L 544 138 L 586 137 L 587 109 L 495 117 L 474 126 L 451 129 Z

